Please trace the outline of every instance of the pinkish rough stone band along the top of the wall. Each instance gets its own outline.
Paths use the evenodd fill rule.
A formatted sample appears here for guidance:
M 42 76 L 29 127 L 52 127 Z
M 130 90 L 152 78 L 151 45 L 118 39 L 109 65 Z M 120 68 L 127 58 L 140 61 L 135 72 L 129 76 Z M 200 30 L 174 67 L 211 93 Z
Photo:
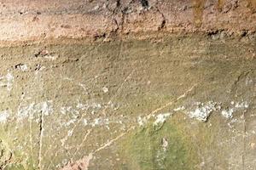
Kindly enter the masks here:
M 251 34 L 254 0 L 1 1 L 2 41 L 115 37 L 131 32 Z

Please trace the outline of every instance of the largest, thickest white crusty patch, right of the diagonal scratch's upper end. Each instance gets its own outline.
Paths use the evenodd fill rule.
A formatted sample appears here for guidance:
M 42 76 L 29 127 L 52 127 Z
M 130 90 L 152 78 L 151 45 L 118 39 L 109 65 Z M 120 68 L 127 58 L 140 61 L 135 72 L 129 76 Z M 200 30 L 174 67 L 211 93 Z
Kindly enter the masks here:
M 198 102 L 194 111 L 189 111 L 189 116 L 202 122 L 207 122 L 212 111 L 217 111 L 217 102 L 208 101 L 206 104 Z

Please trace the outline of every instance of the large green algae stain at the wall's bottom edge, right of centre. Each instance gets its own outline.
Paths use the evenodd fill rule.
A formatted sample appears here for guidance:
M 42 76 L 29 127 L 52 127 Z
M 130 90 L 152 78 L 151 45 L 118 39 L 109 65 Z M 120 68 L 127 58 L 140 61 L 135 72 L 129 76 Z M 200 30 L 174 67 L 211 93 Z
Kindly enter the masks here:
M 123 146 L 128 167 L 139 170 L 192 170 L 197 156 L 191 144 L 175 125 L 138 128 L 125 139 Z

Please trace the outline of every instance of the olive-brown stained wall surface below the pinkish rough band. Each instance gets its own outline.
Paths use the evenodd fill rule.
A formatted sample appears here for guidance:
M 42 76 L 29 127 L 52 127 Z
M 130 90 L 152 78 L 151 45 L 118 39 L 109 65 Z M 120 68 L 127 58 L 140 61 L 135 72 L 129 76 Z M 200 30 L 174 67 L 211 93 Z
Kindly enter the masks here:
M 0 48 L 0 167 L 255 169 L 255 38 L 151 37 Z

